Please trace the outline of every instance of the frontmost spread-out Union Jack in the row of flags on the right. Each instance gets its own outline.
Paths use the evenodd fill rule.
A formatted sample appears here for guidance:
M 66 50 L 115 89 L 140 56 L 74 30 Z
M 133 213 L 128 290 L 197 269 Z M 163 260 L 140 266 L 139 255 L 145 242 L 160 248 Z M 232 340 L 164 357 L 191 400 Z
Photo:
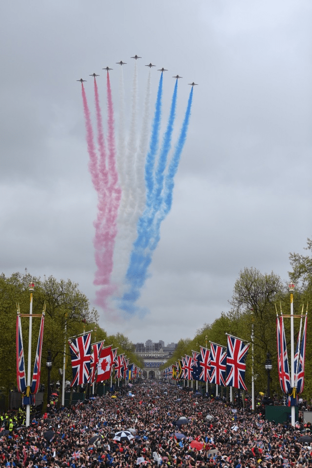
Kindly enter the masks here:
M 245 385 L 246 356 L 249 343 L 228 335 L 228 349 L 226 357 L 227 379 L 226 385 L 235 389 L 247 390 Z

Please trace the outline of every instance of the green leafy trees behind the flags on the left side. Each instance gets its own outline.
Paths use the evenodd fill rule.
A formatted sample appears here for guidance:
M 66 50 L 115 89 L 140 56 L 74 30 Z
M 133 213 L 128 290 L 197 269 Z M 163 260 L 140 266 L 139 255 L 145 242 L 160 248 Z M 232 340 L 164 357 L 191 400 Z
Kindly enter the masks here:
M 16 387 L 16 318 L 17 304 L 21 314 L 29 313 L 30 293 L 28 283 L 35 282 L 33 293 L 33 314 L 41 314 L 45 307 L 45 323 L 41 359 L 41 382 L 47 381 L 45 366 L 48 350 L 52 354 L 51 381 L 59 380 L 59 369 L 63 368 L 64 344 L 66 343 L 66 380 L 72 380 L 71 359 L 68 348 L 68 338 L 77 336 L 83 331 L 92 330 L 92 341 L 105 340 L 105 344 L 118 348 L 118 354 L 124 352 L 130 362 L 143 367 L 143 363 L 134 353 L 134 345 L 124 335 L 107 336 L 98 326 L 98 312 L 90 309 L 89 300 L 78 289 L 78 284 L 71 280 L 58 281 L 53 276 L 33 278 L 25 274 L 14 273 L 6 278 L 0 275 L 0 320 L 4 334 L 0 344 L 0 381 L 6 390 Z M 21 318 L 24 357 L 27 372 L 29 318 Z M 32 364 L 38 343 L 40 318 L 32 319 Z M 26 373 L 27 375 L 27 373 Z

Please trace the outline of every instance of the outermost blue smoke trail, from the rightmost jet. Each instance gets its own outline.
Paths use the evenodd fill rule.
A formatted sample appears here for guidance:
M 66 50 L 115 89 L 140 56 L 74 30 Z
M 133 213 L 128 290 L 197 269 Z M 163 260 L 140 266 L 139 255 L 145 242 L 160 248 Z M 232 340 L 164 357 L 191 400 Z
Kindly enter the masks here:
M 190 115 L 191 115 L 192 99 L 193 99 L 193 88 L 191 90 L 190 97 L 188 100 L 188 105 L 187 105 L 185 117 L 183 120 L 183 124 L 181 127 L 180 135 L 176 144 L 176 148 L 175 148 L 174 154 L 169 164 L 168 174 L 165 178 L 164 194 L 160 200 L 160 210 L 156 213 L 157 215 L 156 223 L 154 223 L 154 226 L 151 228 L 152 232 L 148 236 L 149 237 L 148 248 L 146 249 L 137 248 L 131 253 L 130 264 L 135 265 L 136 270 L 135 269 L 130 270 L 129 268 L 127 272 L 127 280 L 130 286 L 130 290 L 123 295 L 122 303 L 120 306 L 122 310 L 130 314 L 133 314 L 138 311 L 138 308 L 135 305 L 135 302 L 140 296 L 139 290 L 142 288 L 142 286 L 144 285 L 148 277 L 148 267 L 150 266 L 152 262 L 152 254 L 154 250 L 156 249 L 156 246 L 160 239 L 160 224 L 171 209 L 172 194 L 173 194 L 173 189 L 174 189 L 174 177 L 176 175 L 181 153 L 182 153 L 185 140 L 186 140 L 186 136 L 187 136 L 187 129 L 188 129 Z M 167 127 L 167 132 L 169 135 L 170 133 L 169 124 Z M 167 138 L 165 137 L 165 139 Z M 163 145 L 163 149 L 164 148 L 165 148 L 165 145 Z

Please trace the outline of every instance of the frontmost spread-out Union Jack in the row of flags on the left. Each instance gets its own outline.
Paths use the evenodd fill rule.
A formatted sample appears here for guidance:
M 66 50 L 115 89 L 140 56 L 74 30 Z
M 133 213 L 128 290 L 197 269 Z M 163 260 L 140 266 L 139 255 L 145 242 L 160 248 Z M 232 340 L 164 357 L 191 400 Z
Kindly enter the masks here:
M 91 362 L 91 333 L 78 336 L 69 341 L 69 351 L 72 358 L 73 381 L 71 387 L 88 382 Z

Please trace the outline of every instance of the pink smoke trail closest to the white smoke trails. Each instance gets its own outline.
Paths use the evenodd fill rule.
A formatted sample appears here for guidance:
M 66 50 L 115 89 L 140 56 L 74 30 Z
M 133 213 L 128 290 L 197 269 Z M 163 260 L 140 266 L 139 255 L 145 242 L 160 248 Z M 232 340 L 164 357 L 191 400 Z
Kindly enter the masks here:
M 107 212 L 104 223 L 101 227 L 101 234 L 98 238 L 96 247 L 96 261 L 98 272 L 94 284 L 102 286 L 97 292 L 96 303 L 101 307 L 106 306 L 107 297 L 109 297 L 116 287 L 110 284 L 110 276 L 113 271 L 113 254 L 115 247 L 115 238 L 117 235 L 117 214 L 121 199 L 121 189 L 117 186 L 118 174 L 116 170 L 116 146 L 115 146 L 115 126 L 114 109 L 111 93 L 109 74 L 107 73 L 107 111 L 108 111 L 108 172 L 109 184 L 107 186 Z M 100 204 L 106 202 L 103 197 Z M 104 249 L 102 246 L 104 245 Z

